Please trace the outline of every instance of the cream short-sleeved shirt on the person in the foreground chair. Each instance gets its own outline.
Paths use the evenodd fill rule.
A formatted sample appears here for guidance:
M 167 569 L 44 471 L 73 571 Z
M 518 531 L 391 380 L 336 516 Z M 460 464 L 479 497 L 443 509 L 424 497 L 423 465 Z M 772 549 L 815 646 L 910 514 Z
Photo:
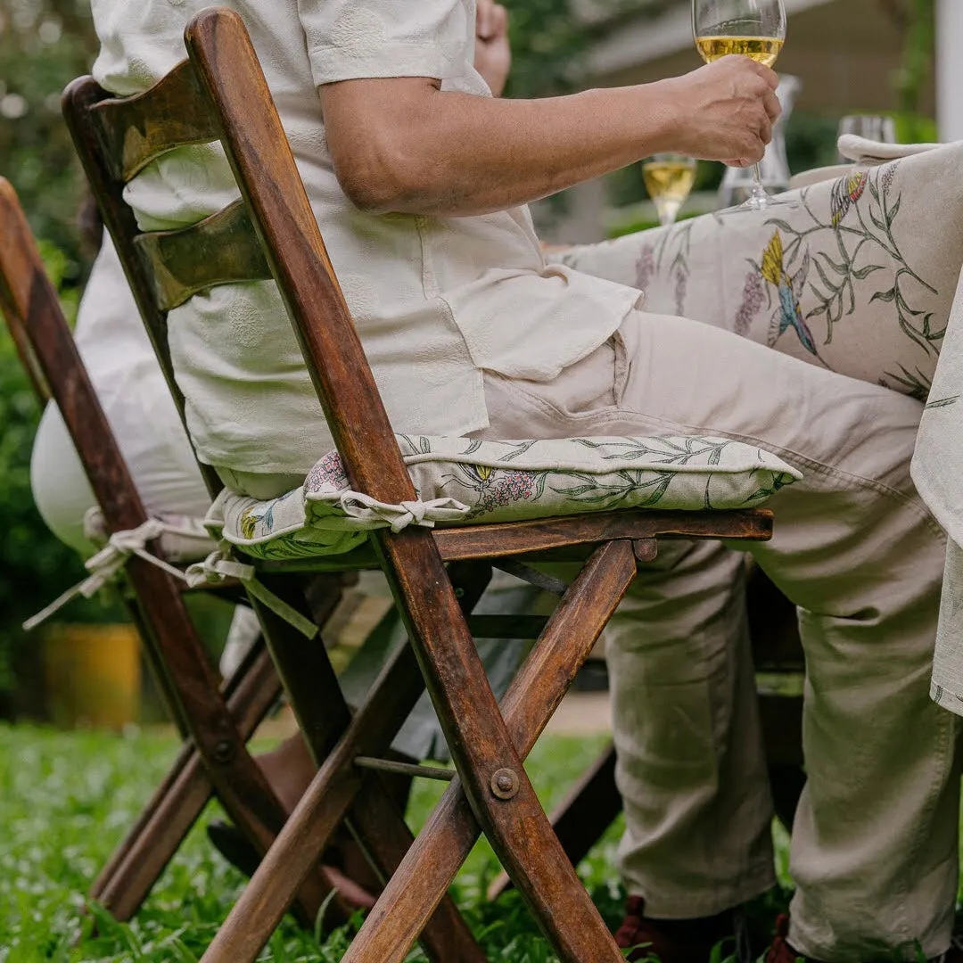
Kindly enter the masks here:
M 108 91 L 146 90 L 185 57 L 209 0 L 92 0 Z M 471 218 L 374 215 L 342 192 L 317 88 L 426 76 L 490 96 L 474 69 L 474 0 L 234 0 L 247 24 L 377 386 L 397 431 L 487 426 L 482 370 L 550 380 L 601 345 L 639 293 L 546 265 L 528 209 Z M 185 226 L 238 196 L 220 144 L 172 151 L 126 191 L 143 229 Z M 202 460 L 306 473 L 331 445 L 273 282 L 225 285 L 169 315 Z

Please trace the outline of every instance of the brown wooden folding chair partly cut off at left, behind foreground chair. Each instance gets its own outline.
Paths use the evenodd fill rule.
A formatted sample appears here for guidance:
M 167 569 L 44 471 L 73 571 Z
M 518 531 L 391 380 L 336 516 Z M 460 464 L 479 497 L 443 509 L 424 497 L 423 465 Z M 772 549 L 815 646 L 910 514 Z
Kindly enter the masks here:
M 39 402 L 63 414 L 91 483 L 107 534 L 147 521 L 137 488 L 120 454 L 40 261 L 13 187 L 0 178 L 0 309 Z M 160 553 L 160 544 L 154 544 Z M 195 823 L 211 794 L 264 851 L 284 822 L 284 811 L 247 752 L 246 742 L 280 694 L 263 644 L 220 686 L 184 604 L 185 586 L 137 557 L 128 563 L 125 592 L 170 716 L 185 741 L 167 777 L 90 891 L 117 920 L 130 919 Z M 339 598 L 336 580 L 319 595 L 321 617 Z M 299 898 L 299 916 L 313 922 L 330 886 L 320 873 Z M 351 913 L 347 904 L 342 916 Z

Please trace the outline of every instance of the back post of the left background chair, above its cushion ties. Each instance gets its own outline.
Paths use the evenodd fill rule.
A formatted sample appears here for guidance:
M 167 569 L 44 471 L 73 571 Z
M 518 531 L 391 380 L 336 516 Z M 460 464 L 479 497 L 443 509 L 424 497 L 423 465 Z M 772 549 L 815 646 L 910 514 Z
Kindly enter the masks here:
M 80 358 L 13 187 L 0 178 L 0 306 L 35 378 L 49 385 L 111 532 L 147 515 Z M 19 337 L 16 332 L 19 331 Z

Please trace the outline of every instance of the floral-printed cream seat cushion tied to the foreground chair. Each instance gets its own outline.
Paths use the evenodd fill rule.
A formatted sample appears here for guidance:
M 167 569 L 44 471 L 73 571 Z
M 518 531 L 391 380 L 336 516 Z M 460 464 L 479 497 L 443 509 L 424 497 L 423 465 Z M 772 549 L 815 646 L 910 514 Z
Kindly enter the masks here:
M 801 478 L 780 458 L 702 435 L 475 441 L 399 435 L 418 502 L 384 506 L 352 492 L 337 452 L 270 501 L 227 489 L 212 531 L 247 555 L 291 559 L 348 552 L 376 528 L 489 523 L 612 508 L 755 508 Z

